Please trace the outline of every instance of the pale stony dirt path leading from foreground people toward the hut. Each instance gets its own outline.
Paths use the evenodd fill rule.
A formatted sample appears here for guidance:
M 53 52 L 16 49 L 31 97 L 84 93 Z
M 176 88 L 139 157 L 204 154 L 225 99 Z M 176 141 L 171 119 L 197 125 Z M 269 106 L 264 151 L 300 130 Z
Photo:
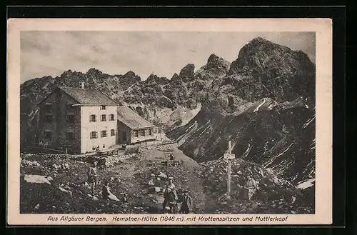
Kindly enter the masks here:
M 169 160 L 169 154 L 173 154 L 176 160 L 182 160 L 183 164 L 179 166 L 162 165 L 162 161 Z M 158 181 L 157 177 L 151 177 L 151 174 L 157 176 L 162 172 L 168 177 L 174 178 L 174 184 L 177 189 L 188 189 L 193 197 L 195 210 L 197 212 L 203 211 L 205 199 L 202 182 L 198 176 L 199 165 L 181 151 L 164 152 L 155 149 L 143 149 L 137 158 L 128 159 L 123 164 L 120 164 L 120 167 L 125 169 L 121 171 L 121 177 L 131 178 L 131 181 L 128 181 L 131 188 L 129 193 L 141 194 L 142 191 L 149 188 L 147 183 L 150 179 L 154 181 L 154 186 L 164 187 L 167 184 L 166 180 L 161 179 Z M 160 210 L 164 201 L 162 194 L 149 194 L 149 197 L 157 201 L 157 205 L 154 207 L 156 210 Z

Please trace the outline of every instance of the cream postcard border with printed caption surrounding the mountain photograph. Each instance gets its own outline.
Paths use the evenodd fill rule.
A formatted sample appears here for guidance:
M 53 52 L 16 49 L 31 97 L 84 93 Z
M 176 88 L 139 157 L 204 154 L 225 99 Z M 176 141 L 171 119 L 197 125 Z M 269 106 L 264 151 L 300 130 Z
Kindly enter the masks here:
M 316 32 L 316 214 L 20 214 L 20 32 L 21 31 L 311 31 Z M 7 50 L 7 222 L 10 225 L 241 225 L 332 223 L 332 21 L 331 19 L 9 19 Z M 105 217 L 107 221 L 49 221 L 49 216 Z M 156 221 L 112 221 L 113 216 Z M 187 221 L 186 218 L 240 218 Z M 253 216 L 252 221 L 242 221 Z M 256 221 L 256 216 L 286 221 Z M 227 217 L 227 218 L 228 218 Z M 180 221 L 182 218 L 183 221 Z M 222 219 L 221 219 L 222 220 Z

